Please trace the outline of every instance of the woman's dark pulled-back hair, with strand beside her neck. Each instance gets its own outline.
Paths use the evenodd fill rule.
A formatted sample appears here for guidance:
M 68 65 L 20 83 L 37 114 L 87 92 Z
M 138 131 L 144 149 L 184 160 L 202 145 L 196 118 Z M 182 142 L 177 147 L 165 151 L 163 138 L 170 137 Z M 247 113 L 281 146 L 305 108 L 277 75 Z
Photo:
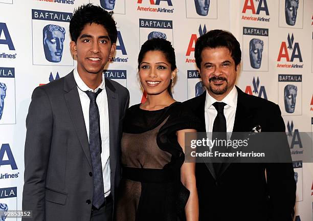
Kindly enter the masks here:
M 145 54 L 149 51 L 162 52 L 166 60 L 171 64 L 171 71 L 174 71 L 177 68 L 176 59 L 175 59 L 175 51 L 171 45 L 171 42 L 163 38 L 152 38 L 144 42 L 143 45 L 141 46 L 141 49 L 138 55 L 138 70 L 140 69 L 140 64 Z M 171 84 L 172 84 L 172 80 L 170 81 L 170 84 L 168 85 L 167 90 L 168 90 L 168 93 L 172 96 Z

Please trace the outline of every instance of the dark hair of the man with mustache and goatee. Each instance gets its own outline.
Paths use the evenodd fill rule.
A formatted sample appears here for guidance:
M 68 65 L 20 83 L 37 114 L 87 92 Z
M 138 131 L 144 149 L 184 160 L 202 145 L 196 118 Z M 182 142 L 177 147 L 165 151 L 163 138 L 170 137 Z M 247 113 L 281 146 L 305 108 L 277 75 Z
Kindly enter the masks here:
M 239 42 L 232 33 L 224 30 L 215 29 L 207 32 L 197 39 L 197 42 L 195 44 L 194 57 L 198 69 L 200 69 L 200 64 L 202 61 L 201 53 L 204 49 L 215 49 L 222 47 L 225 47 L 229 50 L 237 67 L 237 65 L 241 61 L 241 50 Z

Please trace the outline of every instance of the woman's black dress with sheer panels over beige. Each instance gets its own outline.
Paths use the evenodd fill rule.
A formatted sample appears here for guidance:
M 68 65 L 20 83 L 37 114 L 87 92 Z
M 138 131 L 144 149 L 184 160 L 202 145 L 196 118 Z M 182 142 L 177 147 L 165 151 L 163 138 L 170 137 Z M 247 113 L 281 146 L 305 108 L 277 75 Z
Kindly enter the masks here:
M 189 190 L 180 180 L 185 155 L 176 131 L 199 121 L 180 102 L 158 111 L 131 106 L 124 119 L 117 221 L 184 220 Z

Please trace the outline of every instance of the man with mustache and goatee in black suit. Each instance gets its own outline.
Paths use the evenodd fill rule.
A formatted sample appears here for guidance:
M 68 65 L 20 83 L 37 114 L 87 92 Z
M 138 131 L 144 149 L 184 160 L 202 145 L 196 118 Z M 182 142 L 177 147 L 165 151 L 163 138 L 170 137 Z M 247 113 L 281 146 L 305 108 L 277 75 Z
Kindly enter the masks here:
M 184 103 L 202 120 L 199 132 L 233 136 L 233 132 L 285 131 L 277 104 L 235 86 L 241 50 L 230 32 L 212 30 L 200 36 L 195 60 L 207 90 Z M 282 148 L 290 154 L 287 144 Z M 200 221 L 292 220 L 296 198 L 292 163 L 197 162 L 196 184 Z

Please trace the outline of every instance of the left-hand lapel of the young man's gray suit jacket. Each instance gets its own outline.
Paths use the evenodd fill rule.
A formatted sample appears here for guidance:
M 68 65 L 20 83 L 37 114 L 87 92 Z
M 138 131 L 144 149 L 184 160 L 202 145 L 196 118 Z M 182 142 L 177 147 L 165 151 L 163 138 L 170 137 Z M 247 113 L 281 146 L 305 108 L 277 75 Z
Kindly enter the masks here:
M 72 118 L 77 137 L 80 141 L 81 147 L 85 153 L 88 163 L 91 168 L 92 161 L 90 156 L 90 148 L 85 126 L 85 120 L 82 112 L 82 107 L 79 99 L 76 82 L 74 79 L 73 71 L 64 78 L 64 94 L 66 105 L 68 106 L 70 116 Z

